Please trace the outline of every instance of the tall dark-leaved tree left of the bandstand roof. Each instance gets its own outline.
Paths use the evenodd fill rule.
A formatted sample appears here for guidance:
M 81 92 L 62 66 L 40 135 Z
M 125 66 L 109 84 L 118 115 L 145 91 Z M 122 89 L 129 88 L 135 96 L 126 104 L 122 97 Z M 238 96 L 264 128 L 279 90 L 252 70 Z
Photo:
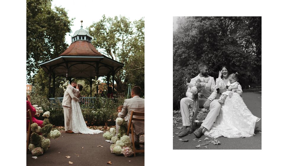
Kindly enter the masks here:
M 60 55 L 68 47 L 65 35 L 71 32 L 73 19 L 69 19 L 64 8 L 51 9 L 51 1 L 26 1 L 26 75 L 29 83 L 40 63 Z

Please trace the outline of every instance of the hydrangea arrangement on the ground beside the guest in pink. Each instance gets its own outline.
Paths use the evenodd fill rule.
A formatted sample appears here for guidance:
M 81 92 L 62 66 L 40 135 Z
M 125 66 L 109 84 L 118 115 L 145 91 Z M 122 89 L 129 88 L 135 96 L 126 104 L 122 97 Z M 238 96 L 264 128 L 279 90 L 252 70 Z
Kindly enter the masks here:
M 50 115 L 49 111 L 46 111 L 42 116 L 46 117 L 43 120 L 43 127 L 37 125 L 37 123 L 31 124 L 31 136 L 30 136 L 30 144 L 28 146 L 29 151 L 31 151 L 33 156 L 40 156 L 43 152 L 47 151 L 50 146 L 49 138 L 55 139 L 60 136 L 60 132 L 58 130 L 53 130 L 52 125 L 49 123 L 47 119 Z M 42 133 L 42 135 L 38 135 L 38 133 Z

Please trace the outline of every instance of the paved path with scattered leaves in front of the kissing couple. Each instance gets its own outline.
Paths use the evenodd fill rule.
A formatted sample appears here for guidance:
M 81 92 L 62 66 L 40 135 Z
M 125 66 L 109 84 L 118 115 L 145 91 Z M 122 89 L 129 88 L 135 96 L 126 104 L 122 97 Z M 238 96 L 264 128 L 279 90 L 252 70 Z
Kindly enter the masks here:
M 144 137 L 140 137 L 144 141 Z M 32 154 L 26 155 L 28 166 L 90 166 L 90 165 L 144 165 L 144 153 L 136 154 L 136 157 L 124 157 L 112 154 L 109 147 L 111 143 L 106 142 L 103 133 L 100 134 L 68 134 L 61 133 L 58 139 L 50 139 L 50 148 L 37 159 L 32 159 Z M 98 147 L 99 145 L 103 147 Z M 144 147 L 141 147 L 143 149 Z M 67 158 L 66 156 L 70 156 Z M 72 162 L 72 164 L 69 164 Z

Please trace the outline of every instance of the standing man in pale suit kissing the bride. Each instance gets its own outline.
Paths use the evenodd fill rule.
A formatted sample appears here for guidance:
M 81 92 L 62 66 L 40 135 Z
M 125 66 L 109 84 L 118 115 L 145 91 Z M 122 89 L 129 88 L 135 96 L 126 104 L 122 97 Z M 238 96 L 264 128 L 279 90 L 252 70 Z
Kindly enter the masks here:
M 76 88 L 77 83 L 72 82 L 72 87 Z M 71 130 L 71 117 L 72 117 L 72 109 L 71 109 L 71 101 L 76 100 L 79 101 L 79 99 L 73 94 L 72 90 L 70 88 L 67 88 L 65 90 L 65 94 L 63 95 L 62 100 L 62 107 L 63 107 L 63 114 L 65 116 L 65 133 L 73 133 Z

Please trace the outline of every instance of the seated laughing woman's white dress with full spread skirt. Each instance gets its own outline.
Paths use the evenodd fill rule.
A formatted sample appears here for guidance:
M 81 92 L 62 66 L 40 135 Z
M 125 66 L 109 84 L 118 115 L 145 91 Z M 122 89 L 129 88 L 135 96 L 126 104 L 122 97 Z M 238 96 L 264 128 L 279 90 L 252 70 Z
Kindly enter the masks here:
M 216 80 L 217 88 L 225 88 L 225 84 L 220 86 L 223 80 Z M 250 137 L 254 135 L 256 120 L 251 111 L 247 108 L 243 98 L 241 98 L 241 85 L 238 85 L 237 92 L 232 97 L 227 97 L 220 109 L 215 123 L 204 135 L 218 138 L 221 136 L 228 138 Z

